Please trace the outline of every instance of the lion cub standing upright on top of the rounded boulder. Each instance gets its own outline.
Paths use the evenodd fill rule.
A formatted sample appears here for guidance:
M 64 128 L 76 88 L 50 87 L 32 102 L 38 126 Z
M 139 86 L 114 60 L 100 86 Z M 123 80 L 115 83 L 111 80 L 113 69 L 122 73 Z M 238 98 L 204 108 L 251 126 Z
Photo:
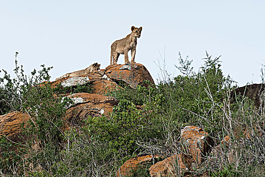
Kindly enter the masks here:
M 111 45 L 110 64 L 116 64 L 120 54 L 124 54 L 125 64 L 130 63 L 128 60 L 128 52 L 131 50 L 131 63 L 135 63 L 135 53 L 137 45 L 137 37 L 141 36 L 142 27 L 136 28 L 132 26 L 131 33 L 125 38 L 116 40 Z

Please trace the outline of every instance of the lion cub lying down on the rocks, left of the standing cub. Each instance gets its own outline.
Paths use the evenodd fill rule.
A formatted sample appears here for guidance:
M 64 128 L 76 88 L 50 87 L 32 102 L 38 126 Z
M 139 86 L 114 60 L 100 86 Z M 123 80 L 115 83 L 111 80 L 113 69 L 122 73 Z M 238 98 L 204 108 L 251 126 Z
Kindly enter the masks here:
M 83 70 L 67 73 L 67 74 L 65 74 L 65 75 L 63 75 L 61 77 L 58 77 L 55 80 L 60 80 L 60 79 L 66 78 L 66 77 L 78 77 L 78 76 L 81 76 L 81 75 L 85 75 L 85 74 L 89 74 L 89 73 L 92 73 L 92 72 L 96 72 L 98 70 L 100 70 L 100 64 L 94 63 L 94 64 L 90 65 L 89 67 L 83 69 Z

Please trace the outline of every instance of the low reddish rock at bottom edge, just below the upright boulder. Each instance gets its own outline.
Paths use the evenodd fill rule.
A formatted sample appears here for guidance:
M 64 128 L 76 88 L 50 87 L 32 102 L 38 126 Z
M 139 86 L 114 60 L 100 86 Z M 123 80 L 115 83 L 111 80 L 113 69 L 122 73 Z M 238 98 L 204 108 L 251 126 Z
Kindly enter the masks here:
M 150 175 L 151 177 L 162 177 L 185 174 L 185 171 L 191 168 L 192 163 L 193 157 L 191 154 L 173 155 L 152 165 L 149 168 Z

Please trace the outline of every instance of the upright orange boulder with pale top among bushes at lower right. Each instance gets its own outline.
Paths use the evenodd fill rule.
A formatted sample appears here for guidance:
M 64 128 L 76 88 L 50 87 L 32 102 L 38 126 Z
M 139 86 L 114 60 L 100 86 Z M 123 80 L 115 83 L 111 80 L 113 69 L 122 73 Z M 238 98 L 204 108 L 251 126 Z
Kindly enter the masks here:
M 185 126 L 181 130 L 181 141 L 185 143 L 186 151 L 192 154 L 198 164 L 201 163 L 203 156 L 209 152 L 213 145 L 213 140 L 208 133 L 197 126 Z

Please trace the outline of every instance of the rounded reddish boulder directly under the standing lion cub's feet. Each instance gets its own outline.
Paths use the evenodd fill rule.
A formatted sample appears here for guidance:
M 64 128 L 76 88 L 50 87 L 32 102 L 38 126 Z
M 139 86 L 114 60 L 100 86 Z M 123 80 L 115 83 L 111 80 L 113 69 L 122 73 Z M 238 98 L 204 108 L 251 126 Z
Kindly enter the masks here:
M 139 63 L 130 63 L 126 65 L 110 65 L 106 68 L 105 74 L 110 79 L 118 82 L 125 82 L 134 89 L 137 85 L 141 85 L 144 80 L 149 80 L 154 84 L 154 80 L 146 67 Z

